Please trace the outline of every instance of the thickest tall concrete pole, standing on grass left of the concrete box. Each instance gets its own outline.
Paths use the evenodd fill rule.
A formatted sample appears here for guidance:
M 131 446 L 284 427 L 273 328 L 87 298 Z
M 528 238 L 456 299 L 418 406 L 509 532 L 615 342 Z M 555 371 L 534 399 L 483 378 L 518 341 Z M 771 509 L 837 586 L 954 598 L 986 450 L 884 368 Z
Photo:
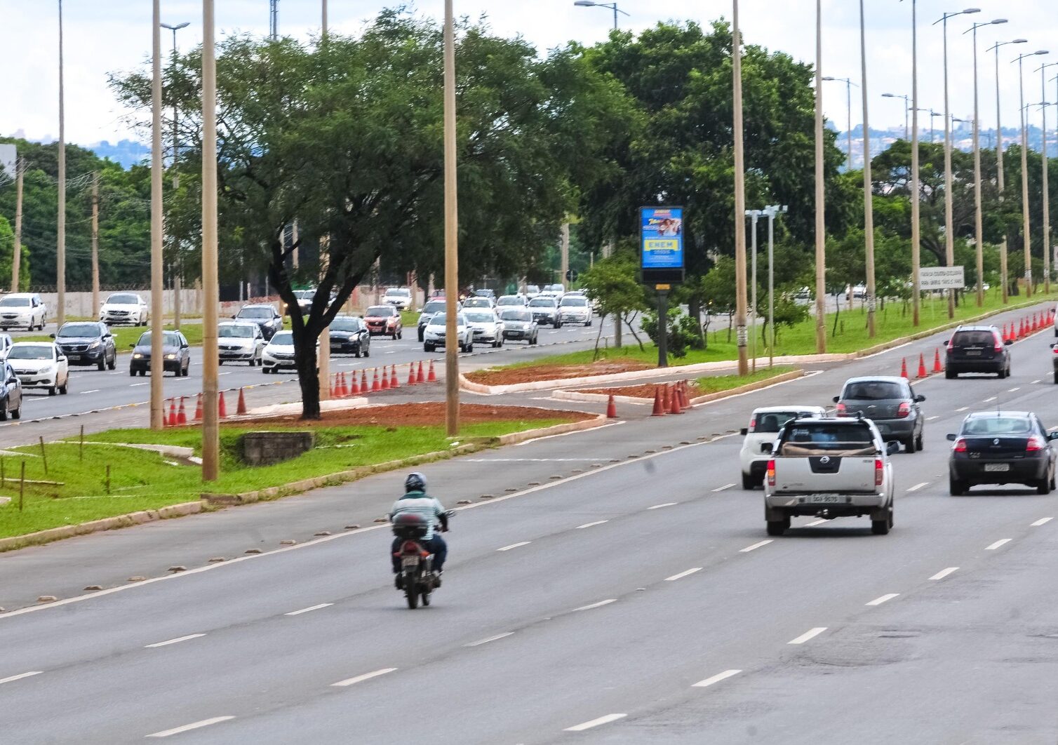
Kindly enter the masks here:
M 217 59 L 214 0 L 202 0 L 202 480 L 220 475 L 217 410 Z

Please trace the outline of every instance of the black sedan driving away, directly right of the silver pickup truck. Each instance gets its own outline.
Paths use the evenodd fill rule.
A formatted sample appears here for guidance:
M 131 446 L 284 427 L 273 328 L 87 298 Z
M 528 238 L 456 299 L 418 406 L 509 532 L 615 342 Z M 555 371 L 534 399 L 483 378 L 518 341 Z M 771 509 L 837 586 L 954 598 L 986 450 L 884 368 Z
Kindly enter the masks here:
M 1039 494 L 1055 488 L 1058 432 L 1032 412 L 975 412 L 963 420 L 948 461 L 949 491 L 961 496 L 982 484 L 1024 484 Z

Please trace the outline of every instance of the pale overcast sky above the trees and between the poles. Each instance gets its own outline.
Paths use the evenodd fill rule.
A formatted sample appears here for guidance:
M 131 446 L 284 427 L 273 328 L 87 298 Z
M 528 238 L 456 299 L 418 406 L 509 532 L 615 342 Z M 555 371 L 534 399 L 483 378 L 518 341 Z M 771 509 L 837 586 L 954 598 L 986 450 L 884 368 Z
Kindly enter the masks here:
M 496 33 L 521 34 L 546 50 L 570 39 L 590 44 L 606 37 L 613 15 L 607 8 L 574 7 L 572 0 L 455 0 L 456 13 L 478 17 L 487 14 Z M 384 0 L 329 0 L 334 31 L 355 34 Z M 882 93 L 911 93 L 911 0 L 868 0 L 869 102 L 872 127 L 902 126 L 904 102 L 881 97 Z M 693 19 L 703 23 L 730 18 L 730 0 L 686 2 L 677 0 L 619 0 L 623 28 L 640 30 L 659 20 Z M 1017 126 L 1018 75 L 1010 60 L 1020 52 L 1046 49 L 1054 54 L 1025 60 L 1027 102 L 1041 101 L 1040 62 L 1058 62 L 1058 12 L 1055 0 L 981 0 L 981 13 L 949 20 L 951 110 L 969 119 L 973 111 L 972 47 L 963 35 L 971 21 L 1006 17 L 1009 22 L 981 29 L 981 116 L 982 126 L 996 122 L 995 53 L 984 51 L 996 41 L 1018 37 L 1026 44 L 1005 47 L 1000 52 L 1000 85 L 1003 123 Z M 442 0 L 419 0 L 417 12 L 439 17 Z M 689 15 L 689 7 L 703 15 Z M 919 0 L 919 102 L 923 108 L 944 110 L 941 25 L 931 25 L 944 12 L 961 10 L 957 2 Z M 855 0 L 823 1 L 823 73 L 851 77 L 859 83 L 859 16 Z M 130 70 L 146 59 L 150 50 L 150 0 L 66 0 L 66 110 L 67 139 L 91 144 L 132 137 L 124 125 L 122 110 L 106 84 L 108 72 Z M 286 35 L 308 38 L 320 30 L 321 0 L 279 0 L 279 30 Z M 201 41 L 201 2 L 162 0 L 164 22 L 190 21 L 180 32 L 180 44 Z M 742 0 L 743 33 L 748 43 L 782 50 L 797 59 L 815 59 L 815 3 L 811 0 Z M 0 26 L 4 30 L 4 72 L 0 75 L 0 134 L 22 130 L 32 139 L 55 138 L 58 133 L 58 31 L 56 0 L 0 0 Z M 266 34 L 269 0 L 217 0 L 218 35 L 233 32 Z M 164 32 L 163 48 L 171 43 Z M 1017 50 L 1017 51 L 1016 51 Z M 1047 78 L 1058 67 L 1047 69 Z M 1048 99 L 1058 98 L 1058 83 L 1048 83 Z M 825 110 L 828 119 L 843 128 L 846 117 L 844 86 L 826 83 Z M 854 126 L 862 122 L 859 89 L 853 89 Z M 1040 111 L 1034 108 L 1033 122 Z M 1054 110 L 1048 116 L 1055 121 Z M 928 127 L 925 114 L 923 127 Z M 943 127 L 942 117 L 936 119 Z M 1050 129 L 1050 127 L 1048 127 Z

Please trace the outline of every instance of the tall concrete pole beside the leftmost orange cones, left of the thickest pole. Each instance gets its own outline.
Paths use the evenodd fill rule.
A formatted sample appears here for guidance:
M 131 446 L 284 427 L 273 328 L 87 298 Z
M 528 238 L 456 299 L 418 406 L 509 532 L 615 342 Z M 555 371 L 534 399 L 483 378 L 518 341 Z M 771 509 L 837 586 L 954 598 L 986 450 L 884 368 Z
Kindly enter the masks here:
M 151 29 L 151 153 L 150 153 L 150 429 L 165 426 L 165 403 L 162 401 L 162 376 L 165 359 L 162 351 L 164 317 L 162 305 L 162 11 L 161 0 L 153 0 L 154 23 Z

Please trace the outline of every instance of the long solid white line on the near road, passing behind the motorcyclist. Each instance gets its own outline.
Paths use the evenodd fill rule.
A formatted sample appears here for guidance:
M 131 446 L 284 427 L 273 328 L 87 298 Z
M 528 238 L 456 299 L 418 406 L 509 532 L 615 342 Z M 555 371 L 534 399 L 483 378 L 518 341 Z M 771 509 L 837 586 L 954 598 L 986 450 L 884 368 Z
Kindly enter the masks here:
M 805 376 L 805 377 L 807 377 L 807 376 Z M 777 385 L 779 385 L 779 383 L 777 383 Z M 147 403 L 147 402 L 145 401 L 144 403 Z M 608 426 L 608 424 L 604 425 L 604 426 Z M 596 428 L 596 430 L 601 430 L 601 429 L 602 428 Z M 595 432 L 596 430 L 591 430 L 591 432 Z M 569 484 L 570 481 L 576 481 L 576 480 L 579 480 L 581 478 L 587 478 L 588 476 L 595 476 L 597 474 L 603 473 L 605 471 L 609 471 L 609 470 L 615 469 L 615 468 L 621 468 L 623 466 L 631 466 L 633 464 L 642 462 L 643 460 L 651 460 L 653 458 L 660 457 L 662 455 L 669 455 L 671 453 L 675 453 L 675 452 L 678 452 L 680 450 L 689 450 L 691 448 L 698 448 L 698 447 L 705 446 L 705 444 L 712 444 L 714 442 L 718 442 L 720 440 L 726 440 L 726 439 L 729 439 L 729 438 L 734 437 L 734 436 L 735 436 L 734 434 L 718 435 L 717 437 L 711 437 L 708 440 L 704 440 L 701 442 L 692 442 L 691 444 L 678 446 L 676 448 L 673 448 L 672 450 L 661 451 L 660 453 L 655 453 L 653 455 L 643 455 L 641 457 L 634 458 L 632 460 L 622 460 L 619 464 L 609 464 L 608 466 L 603 466 L 602 468 L 597 468 L 597 469 L 594 469 L 591 471 L 585 471 L 584 473 L 578 473 L 578 474 L 569 476 L 567 478 L 562 478 L 562 479 L 554 480 L 554 481 L 548 481 L 547 484 L 541 484 L 540 486 L 535 486 L 535 487 L 529 487 L 528 489 L 523 489 L 522 491 L 516 491 L 513 494 L 505 494 L 504 496 L 498 496 L 498 497 L 496 497 L 494 499 L 489 499 L 488 502 L 477 502 L 477 503 L 474 503 L 473 505 L 463 505 L 462 507 L 456 507 L 454 509 L 454 511 L 455 512 L 461 512 L 462 510 L 471 510 L 471 509 L 475 509 L 475 508 L 479 508 L 479 507 L 485 507 L 487 505 L 495 505 L 495 504 L 498 504 L 500 502 L 507 502 L 508 499 L 513 499 L 515 497 L 526 496 L 528 494 L 532 494 L 532 493 L 537 492 L 537 491 L 544 491 L 545 489 L 552 489 L 552 488 L 554 488 L 557 486 L 564 486 L 566 484 Z M 146 579 L 146 580 L 144 580 L 142 582 L 134 582 L 134 583 L 131 583 L 131 584 L 117 585 L 115 587 L 108 587 L 107 589 L 101 589 L 101 590 L 97 590 L 95 593 L 87 593 L 85 595 L 78 595 L 78 596 L 72 597 L 72 598 L 63 598 L 62 600 L 56 600 L 55 602 L 48 603 L 45 605 L 28 605 L 26 607 L 20 607 L 20 608 L 17 608 L 15 611 L 7 611 L 6 613 L 0 613 L 0 620 L 3 620 L 4 618 L 12 618 L 14 616 L 21 616 L 21 615 L 24 615 L 24 614 L 28 614 L 28 613 L 38 613 L 40 611 L 48 611 L 48 610 L 54 608 L 54 607 L 61 607 L 62 605 L 70 605 L 72 603 L 79 603 L 79 602 L 84 602 L 86 600 L 93 600 L 95 598 L 99 598 L 99 597 L 103 597 L 105 595 L 112 595 L 114 593 L 125 593 L 125 592 L 130 590 L 130 589 L 135 589 L 135 588 L 139 588 L 139 587 L 143 587 L 144 585 L 153 584 L 154 582 L 167 582 L 167 581 L 177 580 L 177 579 L 180 579 L 180 578 L 183 578 L 183 577 L 191 577 L 194 575 L 198 575 L 198 574 L 203 573 L 203 571 L 216 571 L 217 569 L 221 569 L 221 568 L 224 568 L 224 567 L 227 567 L 227 566 L 234 566 L 234 565 L 238 564 L 239 562 L 253 561 L 253 560 L 256 560 L 256 559 L 263 559 L 264 557 L 272 557 L 272 556 L 276 556 L 278 553 L 286 553 L 287 551 L 297 551 L 297 550 L 300 550 L 303 548 L 309 548 L 311 546 L 317 546 L 321 543 L 327 543 L 328 541 L 338 541 L 340 539 L 349 538 L 351 535 L 360 535 L 362 533 L 371 532 L 371 531 L 375 531 L 375 530 L 382 530 L 383 528 L 388 528 L 388 527 L 389 527 L 388 525 L 370 525 L 370 526 L 368 526 L 366 528 L 357 528 L 355 530 L 347 530 L 347 531 L 344 531 L 344 532 L 341 532 L 341 533 L 334 533 L 333 535 L 325 535 L 323 538 L 317 538 L 317 539 L 314 539 L 312 541 L 306 541 L 305 543 L 298 543 L 298 544 L 295 544 L 293 546 L 284 546 L 282 548 L 275 548 L 275 549 L 272 549 L 271 551 L 263 551 L 262 553 L 251 553 L 251 555 L 248 555 L 248 556 L 236 557 L 236 558 L 231 559 L 230 561 L 225 561 L 225 562 L 217 562 L 216 564 L 206 564 L 205 566 L 199 566 L 199 567 L 196 567 L 194 569 L 188 569 L 187 571 L 178 571 L 176 574 L 164 575 L 162 577 L 151 577 L 150 579 Z

